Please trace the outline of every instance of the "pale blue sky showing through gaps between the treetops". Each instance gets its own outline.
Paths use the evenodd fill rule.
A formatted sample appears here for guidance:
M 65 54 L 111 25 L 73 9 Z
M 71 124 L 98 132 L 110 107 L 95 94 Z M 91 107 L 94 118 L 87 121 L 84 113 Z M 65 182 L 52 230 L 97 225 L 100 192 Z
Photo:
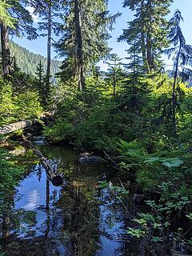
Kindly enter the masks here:
M 112 38 L 109 40 L 109 46 L 110 48 L 113 48 L 112 52 L 125 58 L 127 45 L 124 42 L 117 42 L 117 38 L 122 34 L 122 29 L 126 28 L 126 22 L 133 19 L 133 13 L 131 13 L 128 8 L 122 8 L 122 0 L 109 0 L 109 9 L 111 14 L 115 14 L 118 11 L 122 13 L 122 16 L 118 18 L 114 25 L 114 30 L 111 32 Z M 182 24 L 183 34 L 186 37 L 186 42 L 192 45 L 192 0 L 174 0 L 174 3 L 170 7 L 171 12 L 168 18 L 174 14 L 174 10 L 176 9 L 182 11 L 182 16 L 184 18 L 184 23 Z M 20 46 L 24 46 L 26 49 L 33 51 L 36 54 L 46 56 L 46 38 L 38 38 L 33 41 L 28 41 L 25 38 L 14 38 L 14 42 L 17 42 Z M 52 56 L 55 56 L 54 50 Z M 105 65 L 102 63 L 100 64 L 102 68 L 105 69 Z

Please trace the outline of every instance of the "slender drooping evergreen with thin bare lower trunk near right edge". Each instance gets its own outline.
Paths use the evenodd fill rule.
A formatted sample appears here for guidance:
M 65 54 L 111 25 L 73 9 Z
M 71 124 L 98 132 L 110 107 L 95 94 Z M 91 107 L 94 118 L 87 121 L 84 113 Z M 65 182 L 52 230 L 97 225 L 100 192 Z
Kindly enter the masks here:
M 183 21 L 182 14 L 179 10 L 176 10 L 174 17 L 170 19 L 170 33 L 168 39 L 172 48 L 166 50 L 166 54 L 170 58 L 174 54 L 174 84 L 173 84 L 173 96 L 172 96 L 172 125 L 174 135 L 177 134 L 176 125 L 176 110 L 177 110 L 177 79 L 179 73 L 179 66 L 185 69 L 185 66 L 190 64 L 192 60 L 192 46 L 186 45 L 186 39 L 182 34 L 180 23 Z M 189 69 L 187 69 L 189 70 Z

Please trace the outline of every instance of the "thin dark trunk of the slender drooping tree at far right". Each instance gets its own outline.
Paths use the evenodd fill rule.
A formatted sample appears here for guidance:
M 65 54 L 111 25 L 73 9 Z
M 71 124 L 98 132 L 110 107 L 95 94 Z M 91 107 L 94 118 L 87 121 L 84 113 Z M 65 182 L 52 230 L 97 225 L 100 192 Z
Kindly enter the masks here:
M 178 62 L 180 58 L 182 50 L 182 44 L 179 46 L 178 50 L 178 56 L 176 58 L 176 63 L 175 63 L 175 72 L 174 72 L 174 85 L 173 85 L 173 96 L 172 96 L 172 126 L 173 126 L 173 132 L 174 136 L 177 136 L 177 124 L 176 124 L 176 82 L 178 78 Z

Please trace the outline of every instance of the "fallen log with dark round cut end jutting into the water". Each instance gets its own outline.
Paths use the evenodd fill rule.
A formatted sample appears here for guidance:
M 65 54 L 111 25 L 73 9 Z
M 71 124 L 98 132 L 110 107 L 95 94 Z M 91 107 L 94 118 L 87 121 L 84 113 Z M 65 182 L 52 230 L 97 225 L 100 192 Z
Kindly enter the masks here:
M 54 186 L 61 186 L 63 183 L 62 176 L 55 173 L 55 170 L 50 165 L 49 160 L 47 160 L 43 156 L 42 152 L 38 150 L 29 140 L 27 140 L 27 138 L 24 135 L 22 135 L 22 140 L 23 142 L 25 142 L 26 146 L 28 146 L 31 150 L 33 150 L 34 154 L 38 156 L 38 158 L 42 162 L 42 166 L 44 166 L 46 169 L 46 174 L 48 178 L 50 178 L 50 182 L 52 182 Z

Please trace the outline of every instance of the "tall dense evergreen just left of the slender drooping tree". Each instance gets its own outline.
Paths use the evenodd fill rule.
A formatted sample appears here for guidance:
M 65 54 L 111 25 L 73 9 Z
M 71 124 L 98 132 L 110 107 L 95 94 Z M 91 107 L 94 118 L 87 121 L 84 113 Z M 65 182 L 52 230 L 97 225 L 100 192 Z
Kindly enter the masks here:
M 162 50 L 167 46 L 166 15 L 172 0 L 125 0 L 124 7 L 136 11 L 133 21 L 128 22 L 128 28 L 118 41 L 126 41 L 130 45 L 129 53 L 142 54 L 143 66 L 146 72 L 157 70 L 161 65 Z

